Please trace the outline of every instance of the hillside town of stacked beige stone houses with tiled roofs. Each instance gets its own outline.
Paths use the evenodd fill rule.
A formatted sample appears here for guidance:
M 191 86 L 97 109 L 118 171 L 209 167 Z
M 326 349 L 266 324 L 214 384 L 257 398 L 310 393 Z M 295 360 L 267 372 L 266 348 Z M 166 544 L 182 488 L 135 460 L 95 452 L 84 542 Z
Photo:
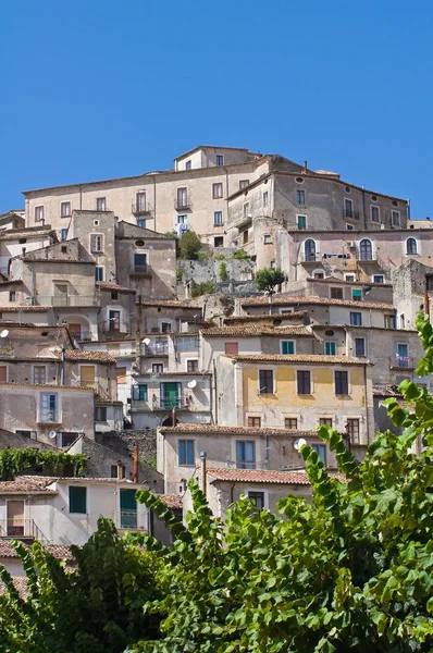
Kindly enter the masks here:
M 14 577 L 12 538 L 73 565 L 100 515 L 170 544 L 140 489 L 181 517 L 191 478 L 221 518 L 242 494 L 271 512 L 308 498 L 302 444 L 338 473 L 319 426 L 362 459 L 395 430 L 383 402 L 398 384 L 430 390 L 415 320 L 430 315 L 433 221 L 407 199 L 214 146 L 23 195 L 0 215 L 0 457 L 36 452 L 12 476 L 1 464 Z M 281 283 L 261 291 L 261 270 Z

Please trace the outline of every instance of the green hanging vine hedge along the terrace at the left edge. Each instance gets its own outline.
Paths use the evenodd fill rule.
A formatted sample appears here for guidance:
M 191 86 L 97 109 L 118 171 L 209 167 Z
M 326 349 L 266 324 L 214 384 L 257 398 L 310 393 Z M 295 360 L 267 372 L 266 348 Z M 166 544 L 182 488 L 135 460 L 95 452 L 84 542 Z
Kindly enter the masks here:
M 26 469 L 41 467 L 45 471 L 58 471 L 73 465 L 75 476 L 81 476 L 86 467 L 86 454 L 67 454 L 50 449 L 8 447 L 0 451 L 0 478 L 11 481 Z

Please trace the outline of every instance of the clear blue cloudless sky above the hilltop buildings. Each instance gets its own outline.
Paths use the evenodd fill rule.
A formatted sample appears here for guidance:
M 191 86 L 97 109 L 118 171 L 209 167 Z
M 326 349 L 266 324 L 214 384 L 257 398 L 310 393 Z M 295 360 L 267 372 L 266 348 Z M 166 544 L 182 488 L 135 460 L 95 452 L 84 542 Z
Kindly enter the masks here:
M 432 17 L 431 0 L 3 0 L 0 212 L 208 144 L 433 218 Z

